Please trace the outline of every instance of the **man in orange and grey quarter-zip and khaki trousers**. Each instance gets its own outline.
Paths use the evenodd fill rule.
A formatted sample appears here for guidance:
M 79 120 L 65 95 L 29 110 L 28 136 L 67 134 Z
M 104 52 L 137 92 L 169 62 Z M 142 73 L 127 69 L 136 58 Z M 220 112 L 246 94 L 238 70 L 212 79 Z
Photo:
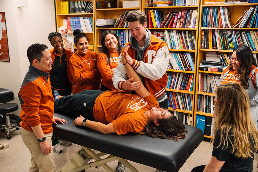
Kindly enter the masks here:
M 30 171 L 55 171 L 52 151 L 52 124 L 66 120 L 55 118 L 54 98 L 49 72 L 52 68 L 51 53 L 44 44 L 32 44 L 27 50 L 30 62 L 18 97 L 21 104 L 21 137 L 31 153 Z

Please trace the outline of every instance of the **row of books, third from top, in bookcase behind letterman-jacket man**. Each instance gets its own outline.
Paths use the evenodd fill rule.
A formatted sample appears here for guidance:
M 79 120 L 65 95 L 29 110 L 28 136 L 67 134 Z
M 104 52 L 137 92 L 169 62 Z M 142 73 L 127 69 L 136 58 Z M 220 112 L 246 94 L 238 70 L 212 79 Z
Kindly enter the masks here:
M 168 49 L 195 50 L 196 31 L 164 30 L 164 41 Z

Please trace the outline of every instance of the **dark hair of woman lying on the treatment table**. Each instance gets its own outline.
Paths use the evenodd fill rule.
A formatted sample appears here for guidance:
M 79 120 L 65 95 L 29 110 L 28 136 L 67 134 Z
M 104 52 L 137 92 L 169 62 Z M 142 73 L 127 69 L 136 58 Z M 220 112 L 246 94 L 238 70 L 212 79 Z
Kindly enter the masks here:
M 175 115 L 168 118 L 158 120 L 159 126 L 154 122 L 148 121 L 145 126 L 145 131 L 140 132 L 140 135 L 147 135 L 153 138 L 162 139 L 183 139 L 186 137 L 187 129 L 184 124 L 178 121 Z

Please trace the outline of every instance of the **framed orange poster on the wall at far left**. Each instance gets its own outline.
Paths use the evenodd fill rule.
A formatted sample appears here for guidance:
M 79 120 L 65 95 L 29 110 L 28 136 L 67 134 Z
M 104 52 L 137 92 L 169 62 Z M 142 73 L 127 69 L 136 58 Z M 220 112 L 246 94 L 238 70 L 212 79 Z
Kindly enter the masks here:
M 10 62 L 4 12 L 0 12 L 0 61 Z

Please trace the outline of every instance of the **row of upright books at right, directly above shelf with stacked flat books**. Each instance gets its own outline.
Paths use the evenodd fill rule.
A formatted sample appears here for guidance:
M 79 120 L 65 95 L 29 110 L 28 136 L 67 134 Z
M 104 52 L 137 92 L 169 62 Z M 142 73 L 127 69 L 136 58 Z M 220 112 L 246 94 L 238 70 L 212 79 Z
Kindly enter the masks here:
M 246 45 L 252 51 L 258 50 L 258 31 L 202 29 L 201 32 L 201 48 L 204 49 L 234 50 Z

